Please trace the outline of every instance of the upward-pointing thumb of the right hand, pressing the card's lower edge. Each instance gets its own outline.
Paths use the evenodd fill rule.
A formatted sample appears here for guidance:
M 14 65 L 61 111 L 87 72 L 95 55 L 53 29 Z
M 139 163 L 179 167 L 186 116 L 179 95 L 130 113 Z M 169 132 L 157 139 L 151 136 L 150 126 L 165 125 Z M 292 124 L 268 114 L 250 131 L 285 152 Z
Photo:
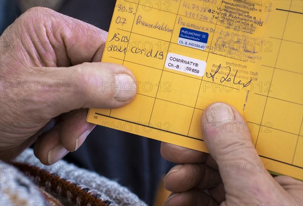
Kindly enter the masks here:
M 268 191 L 281 190 L 265 170 L 235 108 L 224 103 L 210 105 L 201 117 L 201 127 L 205 144 L 219 166 L 226 197 L 258 202 L 268 198 Z

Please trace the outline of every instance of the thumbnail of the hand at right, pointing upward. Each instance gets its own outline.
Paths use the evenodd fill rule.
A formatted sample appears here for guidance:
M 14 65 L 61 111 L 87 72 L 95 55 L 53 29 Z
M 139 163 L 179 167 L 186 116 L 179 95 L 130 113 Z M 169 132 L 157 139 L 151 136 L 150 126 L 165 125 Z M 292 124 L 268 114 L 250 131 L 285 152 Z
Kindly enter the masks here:
M 227 104 L 218 102 L 209 107 L 206 113 L 208 122 L 234 121 L 235 116 Z

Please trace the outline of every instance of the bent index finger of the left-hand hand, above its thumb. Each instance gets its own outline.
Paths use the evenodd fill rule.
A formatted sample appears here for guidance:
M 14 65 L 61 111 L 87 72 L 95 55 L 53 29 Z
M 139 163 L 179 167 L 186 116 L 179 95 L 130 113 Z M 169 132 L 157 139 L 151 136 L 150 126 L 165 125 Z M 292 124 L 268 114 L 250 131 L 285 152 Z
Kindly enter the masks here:
M 67 67 L 100 61 L 108 35 L 93 25 L 41 7 L 27 10 L 14 25 L 1 37 L 7 42 L 26 42 L 26 48 L 20 50 L 24 55 L 9 47 L 5 51 L 27 66 Z M 29 60 L 24 61 L 24 56 Z

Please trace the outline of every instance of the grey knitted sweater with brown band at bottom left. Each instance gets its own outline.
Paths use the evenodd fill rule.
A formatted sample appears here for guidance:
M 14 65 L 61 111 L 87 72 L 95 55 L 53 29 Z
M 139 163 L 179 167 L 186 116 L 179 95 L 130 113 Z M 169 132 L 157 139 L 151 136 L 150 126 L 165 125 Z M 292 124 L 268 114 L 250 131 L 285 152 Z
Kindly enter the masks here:
M 65 161 L 45 166 L 25 150 L 11 164 L 0 161 L 0 205 L 145 206 L 117 182 Z

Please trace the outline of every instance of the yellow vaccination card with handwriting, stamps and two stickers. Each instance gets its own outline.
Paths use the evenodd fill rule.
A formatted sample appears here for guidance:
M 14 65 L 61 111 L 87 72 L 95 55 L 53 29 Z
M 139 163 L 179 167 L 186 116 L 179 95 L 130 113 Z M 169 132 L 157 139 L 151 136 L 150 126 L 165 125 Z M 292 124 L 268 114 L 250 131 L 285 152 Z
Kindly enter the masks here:
M 201 113 L 226 102 L 265 169 L 302 180 L 302 4 L 117 0 L 102 61 L 130 68 L 137 95 L 87 121 L 207 152 Z

